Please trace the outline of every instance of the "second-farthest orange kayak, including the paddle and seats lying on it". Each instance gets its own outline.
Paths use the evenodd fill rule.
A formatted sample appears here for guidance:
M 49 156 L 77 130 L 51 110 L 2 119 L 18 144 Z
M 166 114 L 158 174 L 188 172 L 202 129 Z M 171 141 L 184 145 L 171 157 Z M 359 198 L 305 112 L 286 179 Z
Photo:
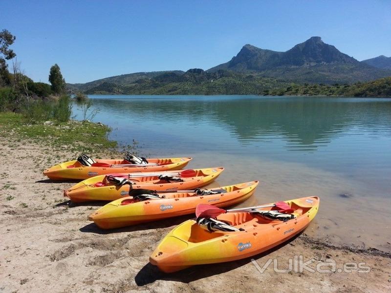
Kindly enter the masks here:
M 208 185 L 214 181 L 223 170 L 223 167 L 217 167 L 153 172 L 153 174 L 120 173 L 100 175 L 83 180 L 68 190 L 64 190 L 64 196 L 69 197 L 75 203 L 79 203 L 93 200 L 113 201 L 128 196 L 130 189 L 137 188 L 163 192 L 189 190 Z M 191 173 L 194 174 L 191 177 L 188 175 L 185 176 L 187 171 L 191 171 Z M 174 178 L 164 178 L 166 176 L 174 176 Z M 118 180 L 127 180 L 128 182 L 125 184 L 110 182 L 110 178 L 112 177 Z

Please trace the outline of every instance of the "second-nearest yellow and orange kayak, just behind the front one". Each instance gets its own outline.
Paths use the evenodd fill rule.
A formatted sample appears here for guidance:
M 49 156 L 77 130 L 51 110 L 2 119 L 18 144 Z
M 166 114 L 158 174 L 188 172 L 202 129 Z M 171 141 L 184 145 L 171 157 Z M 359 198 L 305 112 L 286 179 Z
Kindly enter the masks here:
M 194 213 L 197 204 L 226 207 L 249 198 L 257 185 L 258 181 L 252 181 L 188 192 L 158 192 L 152 199 L 147 194 L 141 200 L 127 196 L 98 209 L 88 219 L 102 229 L 112 229 Z

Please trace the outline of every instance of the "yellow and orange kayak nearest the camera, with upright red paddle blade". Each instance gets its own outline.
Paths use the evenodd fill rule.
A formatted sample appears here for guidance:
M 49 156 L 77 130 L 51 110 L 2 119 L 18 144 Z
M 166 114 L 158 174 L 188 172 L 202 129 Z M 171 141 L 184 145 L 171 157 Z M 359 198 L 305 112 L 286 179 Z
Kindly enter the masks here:
M 319 209 L 318 197 L 285 202 L 293 209 L 294 218 L 284 222 L 252 212 L 227 212 L 217 216 L 218 221 L 237 231 L 209 231 L 195 220 L 188 220 L 164 237 L 150 256 L 150 262 L 163 272 L 175 272 L 194 265 L 234 261 L 267 251 L 304 230 Z

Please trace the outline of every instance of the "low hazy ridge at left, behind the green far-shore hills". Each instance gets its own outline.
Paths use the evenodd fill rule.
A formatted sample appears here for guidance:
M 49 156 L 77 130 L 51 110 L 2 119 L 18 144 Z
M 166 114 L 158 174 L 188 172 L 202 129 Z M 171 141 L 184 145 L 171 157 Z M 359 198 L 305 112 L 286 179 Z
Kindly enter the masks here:
M 152 72 L 136 72 L 136 73 L 130 73 L 130 74 L 122 74 L 122 75 L 116 75 L 116 76 L 111 76 L 103 79 L 99 79 L 96 81 L 92 81 L 86 84 L 66 84 L 66 87 L 70 90 L 72 89 L 73 91 L 84 91 L 92 87 L 99 86 L 103 83 L 109 83 L 109 84 L 131 84 L 134 83 L 138 80 L 143 80 L 143 79 L 150 79 L 155 76 L 161 75 L 163 73 L 167 72 L 173 72 L 177 74 L 183 74 L 184 71 L 181 70 L 174 70 L 174 71 L 152 71 Z

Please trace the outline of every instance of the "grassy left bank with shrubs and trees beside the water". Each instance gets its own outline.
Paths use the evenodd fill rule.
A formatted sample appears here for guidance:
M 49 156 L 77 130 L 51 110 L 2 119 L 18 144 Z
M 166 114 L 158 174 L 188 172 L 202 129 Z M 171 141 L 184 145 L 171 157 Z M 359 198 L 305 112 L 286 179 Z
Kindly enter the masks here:
M 79 153 L 114 153 L 118 144 L 108 139 L 111 128 L 88 120 L 96 112 L 89 110 L 92 101 L 86 95 L 78 93 L 74 99 L 84 120 L 71 119 L 72 99 L 65 93 L 65 79 L 57 64 L 50 68 L 51 85 L 34 83 L 22 74 L 19 63 L 13 60 L 16 54 L 9 48 L 15 39 L 7 30 L 0 32 L 0 136 L 9 142 L 28 140 Z M 12 73 L 5 60 L 13 60 Z

